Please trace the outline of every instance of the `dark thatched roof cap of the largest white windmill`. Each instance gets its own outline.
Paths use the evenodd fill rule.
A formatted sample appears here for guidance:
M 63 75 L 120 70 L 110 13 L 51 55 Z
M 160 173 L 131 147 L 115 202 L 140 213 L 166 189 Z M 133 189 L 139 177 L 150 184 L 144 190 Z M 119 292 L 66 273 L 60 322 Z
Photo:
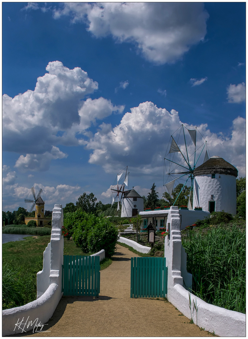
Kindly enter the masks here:
M 198 166 L 194 170 L 194 176 L 202 174 L 229 174 L 237 177 L 238 171 L 237 168 L 231 165 L 229 162 L 223 158 L 214 156 L 205 161 L 202 165 Z

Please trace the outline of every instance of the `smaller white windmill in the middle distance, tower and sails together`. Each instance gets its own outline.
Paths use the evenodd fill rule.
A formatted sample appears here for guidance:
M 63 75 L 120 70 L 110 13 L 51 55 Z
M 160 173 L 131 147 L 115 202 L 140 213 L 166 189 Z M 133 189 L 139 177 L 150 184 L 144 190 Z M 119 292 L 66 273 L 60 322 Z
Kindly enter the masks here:
M 126 172 L 126 173 L 125 173 Z M 125 177 L 123 180 L 123 174 Z M 124 168 L 117 174 L 117 184 L 113 184 L 112 191 L 112 205 L 117 200 L 117 211 L 120 210 L 121 202 L 121 217 L 133 217 L 138 214 L 138 211 L 144 210 L 144 199 L 132 188 L 132 190 L 126 190 L 128 188 L 128 167 Z M 120 196 L 121 193 L 121 196 Z

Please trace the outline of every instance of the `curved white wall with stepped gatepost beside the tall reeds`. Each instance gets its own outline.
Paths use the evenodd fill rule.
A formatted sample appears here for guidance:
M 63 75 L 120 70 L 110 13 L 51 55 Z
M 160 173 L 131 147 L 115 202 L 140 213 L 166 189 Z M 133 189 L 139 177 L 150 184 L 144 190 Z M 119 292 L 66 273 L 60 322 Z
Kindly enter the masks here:
M 205 331 L 214 331 L 215 334 L 223 337 L 245 337 L 246 316 L 243 313 L 210 305 L 192 293 L 190 293 L 190 312 L 189 292 L 183 287 L 183 281 L 185 281 L 186 285 L 190 284 L 190 276 L 185 267 L 186 257 L 184 254 L 182 255 L 179 211 L 176 206 L 172 206 L 167 219 L 167 228 L 170 232 L 170 239 L 168 236 L 165 238 L 165 257 L 166 266 L 168 267 L 168 301 L 189 319 L 191 319 L 192 315 L 194 323 L 205 328 Z M 193 300 L 196 302 L 198 312 L 193 310 Z

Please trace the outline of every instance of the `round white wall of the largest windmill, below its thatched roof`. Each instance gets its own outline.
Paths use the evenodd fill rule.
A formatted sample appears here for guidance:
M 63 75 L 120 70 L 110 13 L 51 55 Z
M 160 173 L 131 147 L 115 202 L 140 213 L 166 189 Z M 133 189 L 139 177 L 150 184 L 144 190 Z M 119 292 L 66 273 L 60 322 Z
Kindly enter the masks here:
M 213 195 L 213 200 L 211 200 Z M 236 178 L 227 174 L 198 175 L 194 177 L 193 207 L 208 211 L 208 202 L 215 201 L 215 211 L 236 214 Z

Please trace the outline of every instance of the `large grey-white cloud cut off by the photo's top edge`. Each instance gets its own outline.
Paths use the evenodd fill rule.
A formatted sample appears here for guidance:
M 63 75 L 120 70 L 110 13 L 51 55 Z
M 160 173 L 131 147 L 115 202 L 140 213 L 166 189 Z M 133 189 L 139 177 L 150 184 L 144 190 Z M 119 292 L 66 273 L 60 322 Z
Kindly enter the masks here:
M 209 17 L 198 2 L 67 2 L 54 10 L 54 18 L 62 15 L 73 23 L 85 22 L 98 38 L 111 35 L 135 44 L 157 64 L 174 62 L 203 41 Z

